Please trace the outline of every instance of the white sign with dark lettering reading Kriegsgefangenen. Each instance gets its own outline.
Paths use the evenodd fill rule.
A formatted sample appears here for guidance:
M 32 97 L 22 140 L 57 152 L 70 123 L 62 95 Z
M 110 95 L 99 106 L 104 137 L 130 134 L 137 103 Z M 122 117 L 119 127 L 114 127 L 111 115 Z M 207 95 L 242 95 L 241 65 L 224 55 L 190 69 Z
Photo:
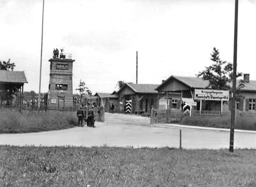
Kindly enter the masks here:
M 228 101 L 228 90 L 195 89 L 195 100 Z

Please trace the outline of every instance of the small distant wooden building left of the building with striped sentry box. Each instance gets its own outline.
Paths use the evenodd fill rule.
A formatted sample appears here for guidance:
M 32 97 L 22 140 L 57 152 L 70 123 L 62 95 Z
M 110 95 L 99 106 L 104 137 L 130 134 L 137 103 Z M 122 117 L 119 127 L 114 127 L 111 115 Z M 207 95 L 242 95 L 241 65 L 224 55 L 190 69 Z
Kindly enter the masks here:
M 105 112 L 110 111 L 110 105 L 112 103 L 114 105 L 114 112 L 117 112 L 118 96 L 116 95 L 116 92 L 113 92 L 112 94 L 97 92 L 94 96 L 97 97 L 97 105 L 103 106 Z

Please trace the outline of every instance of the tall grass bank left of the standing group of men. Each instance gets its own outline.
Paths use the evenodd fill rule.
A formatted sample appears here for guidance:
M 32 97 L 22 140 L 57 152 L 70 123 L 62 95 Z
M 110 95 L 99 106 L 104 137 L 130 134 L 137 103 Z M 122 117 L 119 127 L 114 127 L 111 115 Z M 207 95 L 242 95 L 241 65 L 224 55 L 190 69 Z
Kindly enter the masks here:
M 21 115 L 18 112 L 0 112 L 0 133 L 27 133 L 67 129 L 74 127 L 76 123 L 77 119 L 74 115 L 60 113 Z

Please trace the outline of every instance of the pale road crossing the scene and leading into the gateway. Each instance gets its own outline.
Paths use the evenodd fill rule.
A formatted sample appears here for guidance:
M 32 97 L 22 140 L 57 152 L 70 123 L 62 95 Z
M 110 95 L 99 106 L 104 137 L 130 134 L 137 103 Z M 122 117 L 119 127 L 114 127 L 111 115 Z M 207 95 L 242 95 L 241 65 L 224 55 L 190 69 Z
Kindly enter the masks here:
M 149 118 L 136 115 L 105 114 L 105 122 L 96 122 L 96 128 L 71 129 L 26 134 L 1 134 L 0 144 L 35 146 L 134 146 L 182 147 L 188 149 L 220 149 L 229 147 L 229 132 L 187 129 L 149 124 Z M 235 148 L 255 148 L 256 133 L 235 133 Z

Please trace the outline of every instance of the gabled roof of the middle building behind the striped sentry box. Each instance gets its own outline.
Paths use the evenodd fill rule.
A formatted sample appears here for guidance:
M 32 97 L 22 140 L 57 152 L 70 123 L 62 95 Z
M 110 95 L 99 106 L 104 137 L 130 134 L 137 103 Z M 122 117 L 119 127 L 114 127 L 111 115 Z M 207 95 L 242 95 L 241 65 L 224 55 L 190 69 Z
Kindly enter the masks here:
M 155 88 L 158 85 L 152 85 L 152 84 L 133 84 L 133 83 L 125 83 L 125 85 L 117 92 L 120 93 L 120 91 L 128 86 L 131 88 L 135 93 L 138 94 L 157 94 L 158 92 L 155 90 Z

